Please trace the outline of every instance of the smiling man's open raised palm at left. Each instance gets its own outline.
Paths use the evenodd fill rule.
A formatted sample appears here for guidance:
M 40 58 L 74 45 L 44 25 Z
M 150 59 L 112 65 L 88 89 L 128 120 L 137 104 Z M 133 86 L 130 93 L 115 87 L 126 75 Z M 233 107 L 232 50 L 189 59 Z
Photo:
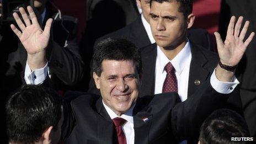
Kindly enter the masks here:
M 34 10 L 30 6 L 28 6 L 28 12 L 32 23 L 30 22 L 28 14 L 26 14 L 24 8 L 19 8 L 19 12 L 22 14 L 25 25 L 17 13 L 13 13 L 13 17 L 22 31 L 19 31 L 13 24 L 10 25 L 10 27 L 22 42 L 28 52 L 28 55 L 34 55 L 41 51 L 45 51 L 50 39 L 52 19 L 47 20 L 45 29 L 42 31 L 38 23 L 38 19 L 36 19 Z

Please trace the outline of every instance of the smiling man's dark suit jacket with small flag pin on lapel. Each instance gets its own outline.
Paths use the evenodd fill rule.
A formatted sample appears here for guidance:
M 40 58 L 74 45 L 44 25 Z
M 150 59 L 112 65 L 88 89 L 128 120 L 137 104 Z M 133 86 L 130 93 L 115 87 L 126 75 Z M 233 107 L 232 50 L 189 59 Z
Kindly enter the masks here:
M 77 98 L 64 106 L 65 143 L 116 143 L 114 125 L 102 98 L 78 92 L 68 92 L 65 97 L 70 95 Z M 212 89 L 209 79 L 195 97 L 183 103 L 177 93 L 138 98 L 133 111 L 135 143 L 197 143 L 201 123 L 213 110 L 221 108 L 227 98 Z M 149 120 L 144 122 L 143 118 Z

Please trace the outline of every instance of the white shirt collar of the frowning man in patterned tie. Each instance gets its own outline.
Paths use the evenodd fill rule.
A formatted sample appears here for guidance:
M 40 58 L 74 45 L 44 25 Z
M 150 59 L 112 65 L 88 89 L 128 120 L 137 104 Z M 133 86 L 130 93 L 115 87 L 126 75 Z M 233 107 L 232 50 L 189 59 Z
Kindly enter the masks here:
M 157 46 L 157 58 L 159 61 L 159 68 L 160 70 L 163 70 L 164 72 L 164 67 L 168 62 L 172 63 L 173 67 L 175 68 L 175 71 L 177 74 L 182 73 L 186 62 L 189 60 L 189 55 L 191 55 L 191 50 L 190 50 L 190 42 L 186 42 L 186 45 L 184 48 L 179 52 L 177 56 L 175 56 L 171 61 L 169 58 L 164 55 L 163 51 L 160 49 L 159 46 Z

